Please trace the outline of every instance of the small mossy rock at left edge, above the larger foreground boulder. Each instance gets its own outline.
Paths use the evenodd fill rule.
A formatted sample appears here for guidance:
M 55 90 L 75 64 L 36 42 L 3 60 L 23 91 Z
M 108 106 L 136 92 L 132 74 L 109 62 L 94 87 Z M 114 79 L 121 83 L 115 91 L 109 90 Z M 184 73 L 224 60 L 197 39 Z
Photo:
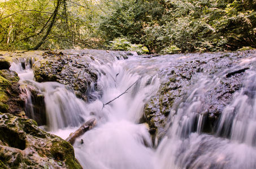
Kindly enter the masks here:
M 18 74 L 11 70 L 0 70 L 0 112 L 19 115 L 24 110 Z

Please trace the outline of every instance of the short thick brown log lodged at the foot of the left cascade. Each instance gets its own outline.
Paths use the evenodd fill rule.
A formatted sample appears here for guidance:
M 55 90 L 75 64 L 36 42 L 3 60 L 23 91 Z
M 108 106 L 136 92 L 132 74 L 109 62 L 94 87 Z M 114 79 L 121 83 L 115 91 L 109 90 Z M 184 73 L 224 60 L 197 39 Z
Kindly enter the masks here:
M 89 121 L 85 122 L 78 130 L 72 132 L 70 136 L 67 137 L 66 141 L 73 145 L 76 141 L 76 138 L 83 135 L 86 131 L 91 130 L 96 125 L 96 119 L 92 118 Z

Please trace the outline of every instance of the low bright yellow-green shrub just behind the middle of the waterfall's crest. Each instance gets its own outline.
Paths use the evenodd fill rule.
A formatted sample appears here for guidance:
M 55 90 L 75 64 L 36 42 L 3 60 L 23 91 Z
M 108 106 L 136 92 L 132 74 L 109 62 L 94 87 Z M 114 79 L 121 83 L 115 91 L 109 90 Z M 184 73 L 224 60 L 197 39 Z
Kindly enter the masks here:
M 136 51 L 138 55 L 146 54 L 149 52 L 147 47 L 141 44 L 132 44 L 128 42 L 125 38 L 115 38 L 114 41 L 110 41 L 111 50 L 120 50 L 120 51 Z

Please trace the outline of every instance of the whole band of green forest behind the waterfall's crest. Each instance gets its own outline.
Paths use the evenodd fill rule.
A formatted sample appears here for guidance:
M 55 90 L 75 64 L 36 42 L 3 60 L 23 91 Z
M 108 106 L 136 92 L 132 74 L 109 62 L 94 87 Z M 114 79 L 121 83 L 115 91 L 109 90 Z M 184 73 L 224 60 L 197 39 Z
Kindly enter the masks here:
M 1 0 L 0 49 L 255 48 L 255 8 L 255 0 Z

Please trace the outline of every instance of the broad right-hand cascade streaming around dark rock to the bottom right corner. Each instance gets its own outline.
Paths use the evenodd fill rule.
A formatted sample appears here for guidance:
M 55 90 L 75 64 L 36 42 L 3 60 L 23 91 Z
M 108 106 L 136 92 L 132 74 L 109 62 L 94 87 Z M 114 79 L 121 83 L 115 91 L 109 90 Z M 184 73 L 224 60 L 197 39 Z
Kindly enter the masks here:
M 168 134 L 155 155 L 157 168 L 256 168 L 256 67 L 254 59 L 247 61 L 240 63 L 250 66 L 243 87 L 223 110 L 216 134 L 202 133 L 203 98 L 230 69 L 214 78 L 199 78 L 177 112 L 171 114 Z

